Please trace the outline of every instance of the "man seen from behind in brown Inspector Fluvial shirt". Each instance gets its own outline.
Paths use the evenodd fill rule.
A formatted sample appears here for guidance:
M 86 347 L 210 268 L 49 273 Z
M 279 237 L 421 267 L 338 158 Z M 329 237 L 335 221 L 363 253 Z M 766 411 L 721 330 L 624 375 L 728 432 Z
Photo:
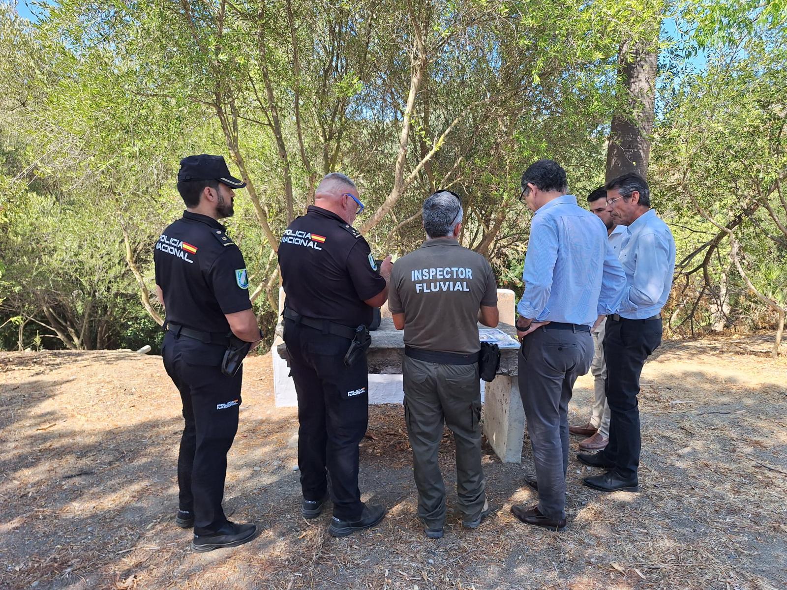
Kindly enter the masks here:
M 489 513 L 481 468 L 481 385 L 477 322 L 497 326 L 497 283 L 490 264 L 462 247 L 460 197 L 438 190 L 423 203 L 427 241 L 393 266 L 388 305 L 405 330 L 405 422 L 427 537 L 440 538 L 445 485 L 438 464 L 443 422 L 456 444 L 456 493 L 462 524 Z

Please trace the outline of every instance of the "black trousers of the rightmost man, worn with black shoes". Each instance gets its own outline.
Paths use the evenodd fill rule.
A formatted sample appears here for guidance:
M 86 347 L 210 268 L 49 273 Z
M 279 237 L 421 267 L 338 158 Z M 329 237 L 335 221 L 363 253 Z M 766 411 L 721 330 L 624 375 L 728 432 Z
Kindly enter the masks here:
M 607 319 L 604 389 L 609 404 L 609 442 L 604 458 L 623 479 L 636 479 L 641 450 L 639 379 L 645 360 L 661 344 L 661 319 Z

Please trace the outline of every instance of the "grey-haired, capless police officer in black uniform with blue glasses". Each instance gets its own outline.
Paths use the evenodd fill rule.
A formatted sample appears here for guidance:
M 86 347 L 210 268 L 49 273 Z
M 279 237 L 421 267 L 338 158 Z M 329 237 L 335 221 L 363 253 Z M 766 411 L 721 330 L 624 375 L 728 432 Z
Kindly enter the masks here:
M 320 515 L 330 474 L 329 532 L 344 537 L 385 515 L 382 506 L 360 501 L 358 443 L 369 417 L 367 327 L 372 308 L 388 297 L 392 265 L 388 256 L 378 269 L 368 243 L 353 229 L 363 205 L 352 180 L 327 175 L 314 202 L 290 223 L 279 245 L 284 341 L 298 399 L 301 514 Z

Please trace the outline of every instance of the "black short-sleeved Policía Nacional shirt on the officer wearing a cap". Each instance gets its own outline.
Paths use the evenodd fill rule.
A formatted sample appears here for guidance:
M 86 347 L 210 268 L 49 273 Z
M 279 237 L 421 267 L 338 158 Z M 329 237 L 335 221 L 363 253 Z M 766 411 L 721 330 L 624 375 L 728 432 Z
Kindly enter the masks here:
M 161 234 L 153 250 L 153 262 L 169 323 L 201 332 L 229 334 L 230 324 L 224 315 L 251 309 L 246 262 L 238 245 L 216 219 L 183 212 L 183 218 Z M 200 341 L 183 337 L 179 340 L 195 351 L 205 350 Z M 209 346 L 216 348 L 214 353 L 198 362 L 220 363 L 226 347 Z M 196 357 L 195 354 L 187 360 L 194 362 Z

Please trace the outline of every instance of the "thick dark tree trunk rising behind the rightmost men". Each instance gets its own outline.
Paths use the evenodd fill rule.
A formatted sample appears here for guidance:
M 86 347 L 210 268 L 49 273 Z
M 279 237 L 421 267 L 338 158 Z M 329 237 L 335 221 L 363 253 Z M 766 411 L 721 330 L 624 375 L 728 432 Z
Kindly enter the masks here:
M 656 31 L 659 29 L 656 28 Z M 618 73 L 626 92 L 625 111 L 615 112 L 607 148 L 607 180 L 626 172 L 648 177 L 650 135 L 656 105 L 658 47 L 653 42 L 624 42 L 618 53 Z

